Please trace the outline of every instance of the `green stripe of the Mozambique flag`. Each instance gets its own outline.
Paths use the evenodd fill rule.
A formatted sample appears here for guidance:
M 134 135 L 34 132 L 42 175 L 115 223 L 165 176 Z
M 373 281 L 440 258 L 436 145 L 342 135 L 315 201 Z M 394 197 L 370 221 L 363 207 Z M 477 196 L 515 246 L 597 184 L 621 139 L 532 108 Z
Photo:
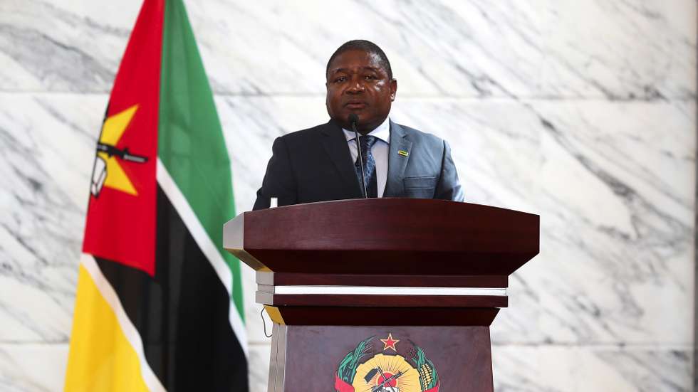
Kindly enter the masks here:
M 235 216 L 230 159 L 182 0 L 165 4 L 158 156 L 230 267 L 244 319 L 240 263 L 223 249 L 223 224 Z

